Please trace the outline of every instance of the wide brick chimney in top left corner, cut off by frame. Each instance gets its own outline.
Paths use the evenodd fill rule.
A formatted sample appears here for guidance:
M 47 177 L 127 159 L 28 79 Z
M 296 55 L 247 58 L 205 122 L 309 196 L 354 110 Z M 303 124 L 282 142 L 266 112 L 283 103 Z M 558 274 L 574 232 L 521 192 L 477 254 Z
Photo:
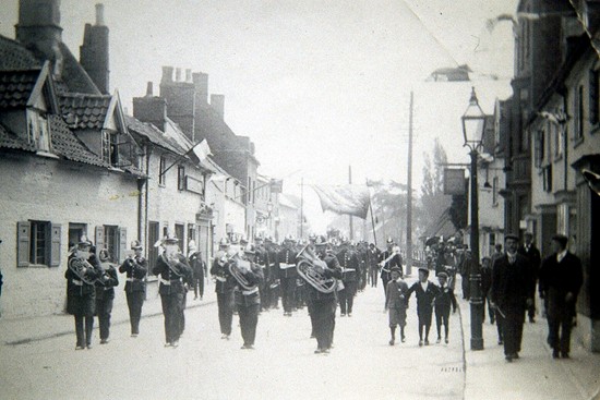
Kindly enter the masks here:
M 62 27 L 60 27 L 60 0 L 20 0 L 19 23 L 15 36 L 36 57 L 52 63 L 52 74 L 62 75 Z

